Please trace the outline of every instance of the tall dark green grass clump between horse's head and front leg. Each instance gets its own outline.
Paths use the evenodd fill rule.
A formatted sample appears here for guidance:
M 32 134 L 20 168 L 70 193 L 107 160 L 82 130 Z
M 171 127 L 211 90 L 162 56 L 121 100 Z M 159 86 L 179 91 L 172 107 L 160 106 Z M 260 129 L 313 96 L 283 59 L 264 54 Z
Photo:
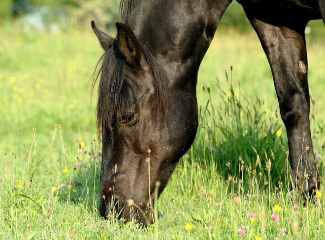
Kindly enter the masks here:
M 209 87 L 203 87 L 208 94 L 205 107 L 200 107 L 200 128 L 196 144 L 199 151 L 207 161 L 214 161 L 220 173 L 234 176 L 244 161 L 250 168 L 261 163 L 273 164 L 268 174 L 272 175 L 271 185 L 281 180 L 285 167 L 287 141 L 283 138 L 282 122 L 277 110 L 263 109 L 263 101 L 256 97 L 255 101 L 242 97 L 240 86 L 238 92 L 234 89 L 234 82 L 229 83 L 229 89 L 221 89 L 219 80 L 216 85 L 219 88 L 218 107 L 213 105 L 215 101 Z M 206 90 L 207 89 L 207 90 Z M 205 156 L 209 156 L 205 158 Z M 227 164 L 227 168 L 225 168 Z M 247 181 L 239 176 L 242 181 Z M 238 180 L 239 180 L 238 179 Z

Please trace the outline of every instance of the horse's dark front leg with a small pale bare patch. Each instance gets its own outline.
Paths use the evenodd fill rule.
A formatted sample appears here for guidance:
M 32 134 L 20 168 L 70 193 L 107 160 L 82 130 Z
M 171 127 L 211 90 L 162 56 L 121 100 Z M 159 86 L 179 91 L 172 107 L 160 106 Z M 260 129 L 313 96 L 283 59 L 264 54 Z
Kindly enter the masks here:
M 286 126 L 294 186 L 309 196 L 320 186 L 310 131 L 307 81 L 306 23 L 286 27 L 268 24 L 273 19 L 245 9 L 271 66 L 281 118 Z M 270 16 L 272 18 L 272 16 Z M 262 19 L 262 20 L 260 20 Z

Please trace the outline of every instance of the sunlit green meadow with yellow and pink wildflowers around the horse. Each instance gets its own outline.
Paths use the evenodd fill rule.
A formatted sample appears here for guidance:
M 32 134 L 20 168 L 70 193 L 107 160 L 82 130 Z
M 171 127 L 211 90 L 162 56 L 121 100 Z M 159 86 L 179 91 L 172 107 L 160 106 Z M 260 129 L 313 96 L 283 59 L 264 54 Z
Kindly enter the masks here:
M 323 187 L 305 205 L 294 193 L 289 200 L 286 133 L 254 32 L 222 25 L 217 31 L 199 71 L 195 143 L 157 201 L 159 220 L 148 228 L 98 215 L 101 147 L 92 75 L 102 50 L 90 21 L 49 32 L 5 20 L 0 38 L 1 239 L 324 236 Z M 322 184 L 324 39 L 325 31 L 306 39 Z

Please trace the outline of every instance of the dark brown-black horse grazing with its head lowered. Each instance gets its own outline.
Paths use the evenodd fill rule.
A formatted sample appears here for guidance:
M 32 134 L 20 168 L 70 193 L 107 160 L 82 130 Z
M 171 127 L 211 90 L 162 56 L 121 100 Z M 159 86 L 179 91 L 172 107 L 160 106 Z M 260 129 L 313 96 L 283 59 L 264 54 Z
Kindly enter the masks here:
M 325 0 L 237 1 L 272 69 L 295 187 L 311 196 L 319 177 L 309 123 L 304 29 L 310 20 L 325 21 Z M 195 139 L 198 69 L 230 2 L 122 0 L 116 38 L 92 21 L 105 50 L 97 105 L 103 137 L 102 216 L 153 221 L 155 188 L 159 197 Z M 302 184 L 300 173 L 308 174 Z

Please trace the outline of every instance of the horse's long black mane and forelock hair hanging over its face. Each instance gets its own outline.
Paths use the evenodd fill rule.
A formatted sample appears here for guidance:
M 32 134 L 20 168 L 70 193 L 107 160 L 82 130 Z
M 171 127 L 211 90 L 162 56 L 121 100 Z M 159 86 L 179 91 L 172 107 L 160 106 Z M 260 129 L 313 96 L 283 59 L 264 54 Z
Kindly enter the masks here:
M 121 20 L 128 25 L 130 14 L 135 8 L 134 0 L 122 0 L 120 5 Z M 137 40 L 137 43 L 147 61 L 157 94 L 157 104 L 165 119 L 167 110 L 167 96 L 169 95 L 168 79 L 161 65 L 155 60 L 146 46 Z M 134 112 L 140 111 L 139 100 L 136 95 L 134 84 L 125 80 L 126 61 L 119 52 L 117 42 L 114 40 L 112 46 L 101 56 L 97 62 L 94 82 L 98 85 L 97 103 L 97 129 L 103 133 L 103 138 L 108 142 L 113 139 L 113 128 L 121 122 L 125 109 L 132 109 Z

